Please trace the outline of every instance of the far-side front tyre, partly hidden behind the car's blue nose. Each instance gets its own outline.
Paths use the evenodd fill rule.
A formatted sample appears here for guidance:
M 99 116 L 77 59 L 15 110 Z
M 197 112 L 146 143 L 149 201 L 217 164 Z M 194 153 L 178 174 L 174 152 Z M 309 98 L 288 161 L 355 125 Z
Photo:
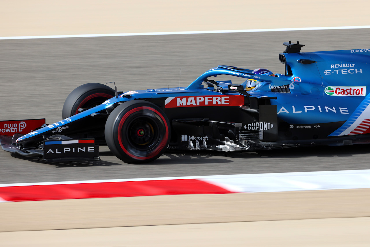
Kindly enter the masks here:
M 100 83 L 87 83 L 77 87 L 65 99 L 63 119 L 78 113 L 80 108 L 91 108 L 115 96 L 113 89 Z

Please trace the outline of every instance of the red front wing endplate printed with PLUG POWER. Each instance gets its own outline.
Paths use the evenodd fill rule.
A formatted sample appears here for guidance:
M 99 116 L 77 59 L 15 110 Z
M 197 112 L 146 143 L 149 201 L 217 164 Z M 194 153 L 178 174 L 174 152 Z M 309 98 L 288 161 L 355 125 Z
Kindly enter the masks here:
M 27 134 L 45 124 L 45 119 L 0 121 L 0 135 Z

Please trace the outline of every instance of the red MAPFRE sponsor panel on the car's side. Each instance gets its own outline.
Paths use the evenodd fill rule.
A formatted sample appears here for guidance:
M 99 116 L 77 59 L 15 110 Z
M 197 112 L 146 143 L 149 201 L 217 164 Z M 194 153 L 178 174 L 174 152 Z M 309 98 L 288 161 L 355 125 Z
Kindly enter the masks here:
M 243 95 L 184 96 L 166 99 L 166 108 L 196 106 L 243 106 Z

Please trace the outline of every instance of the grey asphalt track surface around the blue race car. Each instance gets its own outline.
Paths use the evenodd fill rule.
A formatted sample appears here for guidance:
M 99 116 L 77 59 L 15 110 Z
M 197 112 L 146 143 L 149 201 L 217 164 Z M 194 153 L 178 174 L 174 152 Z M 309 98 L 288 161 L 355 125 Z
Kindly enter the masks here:
M 0 120 L 61 120 L 65 98 L 84 83 L 115 81 L 120 91 L 187 86 L 219 64 L 283 73 L 277 55 L 285 41 L 319 51 L 369 48 L 369 38 L 369 29 L 349 29 L 0 40 Z M 106 147 L 94 163 L 44 163 L 0 150 L 0 183 L 369 169 L 369 148 L 165 153 L 144 165 L 125 164 Z

